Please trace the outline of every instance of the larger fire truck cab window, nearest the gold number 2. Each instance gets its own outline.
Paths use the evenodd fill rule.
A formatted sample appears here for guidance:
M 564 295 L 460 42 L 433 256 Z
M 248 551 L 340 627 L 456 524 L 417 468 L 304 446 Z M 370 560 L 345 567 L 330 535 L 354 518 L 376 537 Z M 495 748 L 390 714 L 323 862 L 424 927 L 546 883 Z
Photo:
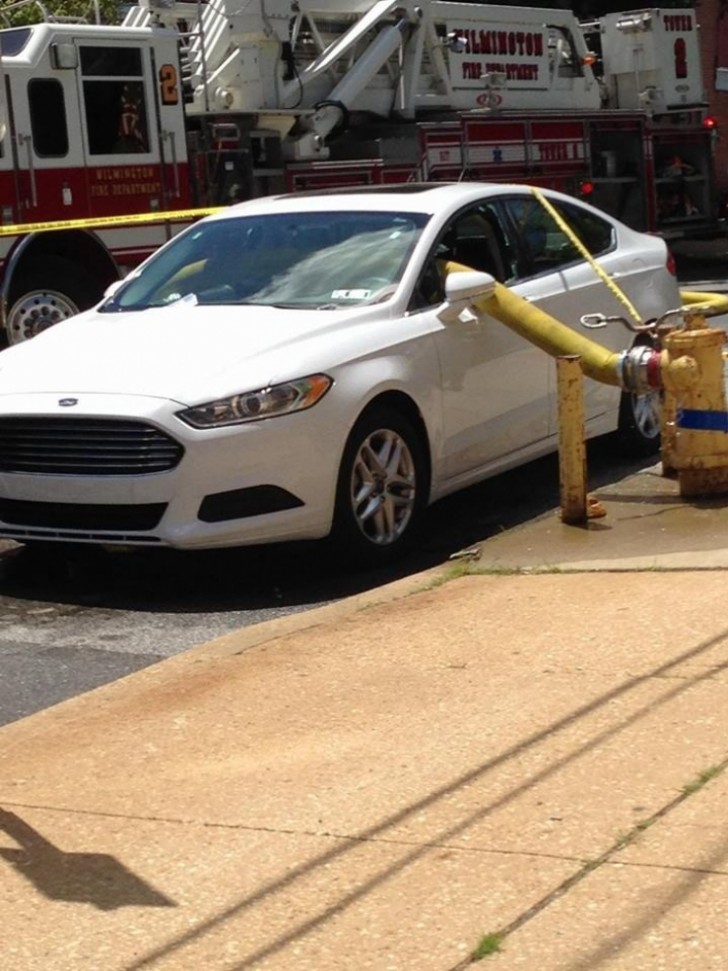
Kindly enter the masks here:
M 89 153 L 148 152 L 141 50 L 81 47 L 81 74 Z

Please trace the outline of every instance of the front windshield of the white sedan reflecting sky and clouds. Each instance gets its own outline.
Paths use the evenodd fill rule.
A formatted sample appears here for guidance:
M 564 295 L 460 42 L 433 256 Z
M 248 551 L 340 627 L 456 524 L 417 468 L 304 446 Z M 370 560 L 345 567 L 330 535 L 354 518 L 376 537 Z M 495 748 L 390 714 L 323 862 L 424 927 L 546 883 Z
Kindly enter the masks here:
M 406 212 L 296 212 L 201 222 L 125 283 L 102 311 L 188 299 L 336 309 L 396 289 L 428 216 Z

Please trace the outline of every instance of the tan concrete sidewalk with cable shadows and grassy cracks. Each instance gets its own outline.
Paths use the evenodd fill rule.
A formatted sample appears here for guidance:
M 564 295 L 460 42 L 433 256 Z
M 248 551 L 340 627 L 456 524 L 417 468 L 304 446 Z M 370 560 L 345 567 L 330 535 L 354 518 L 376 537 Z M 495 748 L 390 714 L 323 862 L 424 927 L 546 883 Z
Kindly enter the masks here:
M 597 496 L 0 729 L 2 967 L 728 968 L 728 501 Z

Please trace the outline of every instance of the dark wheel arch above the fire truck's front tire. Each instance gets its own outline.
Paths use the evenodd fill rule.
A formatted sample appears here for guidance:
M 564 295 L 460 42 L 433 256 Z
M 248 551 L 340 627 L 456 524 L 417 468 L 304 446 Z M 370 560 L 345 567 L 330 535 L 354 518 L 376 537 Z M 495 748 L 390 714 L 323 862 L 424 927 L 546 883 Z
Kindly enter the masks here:
M 83 270 L 97 285 L 99 298 L 109 284 L 121 276 L 109 250 L 95 233 L 84 229 L 28 233 L 12 248 L 5 261 L 0 290 L 0 324 L 5 327 L 9 307 L 17 295 L 17 283 L 24 274 L 41 267 L 48 257 L 58 257 Z

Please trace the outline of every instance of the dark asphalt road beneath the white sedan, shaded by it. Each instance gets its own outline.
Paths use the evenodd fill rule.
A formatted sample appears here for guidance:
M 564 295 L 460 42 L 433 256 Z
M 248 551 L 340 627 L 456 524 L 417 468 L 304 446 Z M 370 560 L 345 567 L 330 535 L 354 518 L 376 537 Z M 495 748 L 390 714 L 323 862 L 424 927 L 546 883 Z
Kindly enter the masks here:
M 725 289 L 717 269 L 684 261 L 681 279 Z M 644 464 L 616 459 L 608 440 L 591 443 L 590 487 Z M 83 558 L 0 544 L 0 725 L 231 630 L 420 572 L 558 502 L 552 456 L 438 503 L 417 552 L 369 573 L 342 572 L 314 543 Z

